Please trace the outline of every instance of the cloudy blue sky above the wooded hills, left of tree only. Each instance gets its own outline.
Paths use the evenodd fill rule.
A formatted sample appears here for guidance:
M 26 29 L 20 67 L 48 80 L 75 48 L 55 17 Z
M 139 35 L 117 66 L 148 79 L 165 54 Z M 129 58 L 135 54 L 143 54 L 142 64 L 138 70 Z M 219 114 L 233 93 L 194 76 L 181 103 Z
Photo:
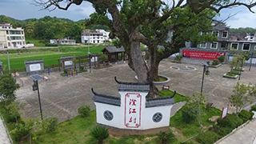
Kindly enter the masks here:
M 19 20 L 50 16 L 78 21 L 89 18 L 90 14 L 94 13 L 94 8 L 89 2 L 82 2 L 80 6 L 72 5 L 69 10 L 53 11 L 41 10 L 42 7 L 34 6 L 32 2 L 33 0 L 0 0 L 0 14 Z

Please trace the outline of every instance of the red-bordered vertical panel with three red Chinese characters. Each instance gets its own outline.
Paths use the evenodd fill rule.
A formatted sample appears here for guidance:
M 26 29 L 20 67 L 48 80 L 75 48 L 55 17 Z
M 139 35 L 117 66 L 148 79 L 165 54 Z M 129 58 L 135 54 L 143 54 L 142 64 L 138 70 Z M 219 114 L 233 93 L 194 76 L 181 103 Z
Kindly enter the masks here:
M 125 96 L 125 126 L 138 128 L 141 126 L 142 96 L 127 93 Z

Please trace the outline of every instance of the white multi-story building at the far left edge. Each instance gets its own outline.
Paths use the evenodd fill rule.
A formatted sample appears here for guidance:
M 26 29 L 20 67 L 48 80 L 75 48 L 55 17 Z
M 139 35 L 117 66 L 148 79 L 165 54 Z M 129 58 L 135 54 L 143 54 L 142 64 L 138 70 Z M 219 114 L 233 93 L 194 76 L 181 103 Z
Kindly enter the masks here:
M 13 28 L 10 23 L 0 23 L 0 49 L 25 46 L 25 34 L 21 27 Z

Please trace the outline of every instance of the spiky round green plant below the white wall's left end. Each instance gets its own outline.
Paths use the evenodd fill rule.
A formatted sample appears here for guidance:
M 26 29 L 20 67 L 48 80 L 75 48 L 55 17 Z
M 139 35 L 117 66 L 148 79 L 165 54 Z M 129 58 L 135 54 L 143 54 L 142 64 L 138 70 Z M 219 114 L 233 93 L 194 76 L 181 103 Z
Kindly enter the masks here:
M 102 144 L 103 140 L 109 137 L 109 131 L 104 126 L 96 126 L 90 131 L 90 134 L 98 140 L 99 144 Z

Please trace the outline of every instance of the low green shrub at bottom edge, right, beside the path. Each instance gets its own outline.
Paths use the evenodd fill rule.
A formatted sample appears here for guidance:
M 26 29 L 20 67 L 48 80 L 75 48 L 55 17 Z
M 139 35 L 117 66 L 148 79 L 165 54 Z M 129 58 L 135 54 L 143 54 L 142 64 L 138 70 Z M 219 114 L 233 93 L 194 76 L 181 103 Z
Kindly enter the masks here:
M 202 136 L 198 135 L 196 140 L 202 144 L 212 144 L 219 138 L 221 138 L 221 136 L 214 133 L 213 131 L 206 131 L 204 134 L 202 134 Z

